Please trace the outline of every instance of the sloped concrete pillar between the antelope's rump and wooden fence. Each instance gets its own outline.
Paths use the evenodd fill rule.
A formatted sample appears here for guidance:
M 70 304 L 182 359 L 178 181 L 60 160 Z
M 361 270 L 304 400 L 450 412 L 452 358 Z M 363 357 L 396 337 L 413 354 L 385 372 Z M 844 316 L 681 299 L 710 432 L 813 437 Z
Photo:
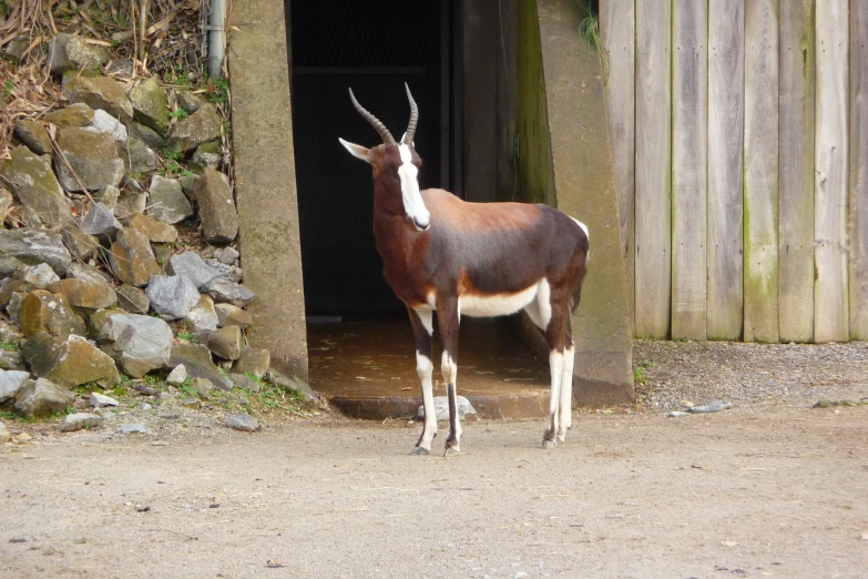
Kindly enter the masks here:
M 582 302 L 571 318 L 576 398 L 627 403 L 635 399 L 632 337 L 602 62 L 579 33 L 578 2 L 535 4 L 556 205 L 584 222 L 591 237 Z

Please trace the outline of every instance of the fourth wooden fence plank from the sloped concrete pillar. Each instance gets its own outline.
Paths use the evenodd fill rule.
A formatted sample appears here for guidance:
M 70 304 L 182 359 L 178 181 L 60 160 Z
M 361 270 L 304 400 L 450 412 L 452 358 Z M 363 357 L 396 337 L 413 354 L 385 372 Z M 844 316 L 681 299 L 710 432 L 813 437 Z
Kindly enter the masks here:
M 744 0 L 709 0 L 709 339 L 742 337 L 744 62 Z

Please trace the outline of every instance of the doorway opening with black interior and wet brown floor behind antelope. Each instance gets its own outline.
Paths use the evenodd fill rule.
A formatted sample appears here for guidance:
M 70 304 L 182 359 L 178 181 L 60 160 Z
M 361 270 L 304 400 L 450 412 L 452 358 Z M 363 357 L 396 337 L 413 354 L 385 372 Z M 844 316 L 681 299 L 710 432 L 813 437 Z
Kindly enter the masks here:
M 345 412 L 365 416 L 370 400 L 417 398 L 419 388 L 407 311 L 382 278 L 374 243 L 370 169 L 338 143 L 380 142 L 347 89 L 400 139 L 410 113 L 406 82 L 420 111 L 419 185 L 460 195 L 462 141 L 471 131 L 462 124 L 466 8 L 458 0 L 285 2 L 309 379 Z M 548 366 L 504 332 L 488 319 L 462 321 L 464 395 L 504 379 L 548 386 Z M 439 359 L 437 342 L 436 334 Z M 359 397 L 368 402 L 340 403 Z M 405 415 L 409 406 L 367 417 Z

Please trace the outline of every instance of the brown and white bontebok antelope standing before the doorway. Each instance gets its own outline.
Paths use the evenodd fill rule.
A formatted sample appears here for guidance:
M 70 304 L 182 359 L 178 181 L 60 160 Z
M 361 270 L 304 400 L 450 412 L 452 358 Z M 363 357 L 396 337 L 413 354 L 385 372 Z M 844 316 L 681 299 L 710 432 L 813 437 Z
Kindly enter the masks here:
M 410 122 L 400 142 L 356 100 L 377 130 L 371 149 L 340 139 L 374 170 L 374 238 L 382 275 L 407 305 L 416 334 L 416 370 L 422 383 L 425 426 L 413 454 L 431 451 L 437 434 L 431 374 L 433 312 L 442 342 L 441 372 L 449 400 L 443 456 L 458 453 L 456 413 L 458 327 L 461 314 L 502 316 L 524 309 L 545 334 L 551 367 L 550 421 L 543 448 L 564 440 L 572 420 L 575 348 L 569 313 L 579 304 L 588 261 L 588 227 L 548 205 L 468 203 L 448 191 L 419 191 L 422 161 L 413 148 L 419 110 L 410 94 Z

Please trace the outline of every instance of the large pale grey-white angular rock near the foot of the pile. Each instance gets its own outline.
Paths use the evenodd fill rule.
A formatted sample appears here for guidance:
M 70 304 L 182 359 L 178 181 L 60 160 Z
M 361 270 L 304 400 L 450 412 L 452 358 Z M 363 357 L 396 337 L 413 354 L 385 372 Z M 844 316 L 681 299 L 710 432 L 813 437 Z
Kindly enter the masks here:
M 102 326 L 101 341 L 121 353 L 124 372 L 140 378 L 164 367 L 172 354 L 172 328 L 164 321 L 137 314 L 110 315 Z

